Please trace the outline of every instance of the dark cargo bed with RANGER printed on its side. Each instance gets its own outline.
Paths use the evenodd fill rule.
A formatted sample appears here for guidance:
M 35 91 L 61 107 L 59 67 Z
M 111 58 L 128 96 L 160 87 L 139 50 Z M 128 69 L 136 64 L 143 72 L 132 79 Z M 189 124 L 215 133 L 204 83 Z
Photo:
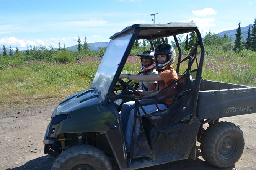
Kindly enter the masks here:
M 256 112 L 256 87 L 202 80 L 196 114 L 199 120 Z

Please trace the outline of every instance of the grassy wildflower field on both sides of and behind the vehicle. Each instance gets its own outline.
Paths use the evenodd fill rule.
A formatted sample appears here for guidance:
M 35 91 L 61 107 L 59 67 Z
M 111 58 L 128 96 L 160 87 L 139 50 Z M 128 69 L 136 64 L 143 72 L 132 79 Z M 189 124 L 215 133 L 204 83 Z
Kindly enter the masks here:
M 66 98 L 90 87 L 100 62 L 99 57 L 85 57 L 73 63 L 31 61 L 2 69 L 0 104 Z M 205 56 L 202 79 L 256 87 L 255 68 L 256 56 Z M 140 58 L 129 56 L 123 73 L 139 71 Z

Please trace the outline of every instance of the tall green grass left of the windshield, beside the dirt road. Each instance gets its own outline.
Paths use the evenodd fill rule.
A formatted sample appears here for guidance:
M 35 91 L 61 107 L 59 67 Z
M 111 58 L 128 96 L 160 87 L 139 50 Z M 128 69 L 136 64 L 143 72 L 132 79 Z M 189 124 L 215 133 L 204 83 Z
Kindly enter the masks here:
M 31 98 L 65 98 L 90 87 L 101 58 L 75 63 L 27 62 L 0 71 L 0 103 Z

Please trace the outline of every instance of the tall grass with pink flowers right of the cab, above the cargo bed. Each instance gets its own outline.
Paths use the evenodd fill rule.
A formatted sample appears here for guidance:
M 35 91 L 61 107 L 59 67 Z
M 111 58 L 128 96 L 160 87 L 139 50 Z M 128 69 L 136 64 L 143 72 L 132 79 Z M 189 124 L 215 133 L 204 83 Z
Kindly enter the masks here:
M 256 85 L 256 58 L 205 56 L 203 79 L 242 85 Z

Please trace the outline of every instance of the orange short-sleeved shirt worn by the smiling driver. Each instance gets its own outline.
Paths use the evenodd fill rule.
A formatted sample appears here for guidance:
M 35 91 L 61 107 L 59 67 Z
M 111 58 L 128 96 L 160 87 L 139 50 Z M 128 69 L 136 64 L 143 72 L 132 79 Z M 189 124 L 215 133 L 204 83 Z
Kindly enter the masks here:
M 178 79 L 177 72 L 173 69 L 172 66 L 167 67 L 164 71 L 158 72 L 158 74 L 163 79 L 162 81 L 158 82 L 159 90 L 164 89 L 171 82 L 173 82 L 174 80 Z M 176 86 L 175 86 L 175 87 L 172 87 L 169 90 L 167 90 L 165 95 L 167 97 L 167 96 L 175 95 L 176 93 L 177 93 L 177 89 L 176 89 Z M 172 98 L 166 99 L 165 103 L 172 104 L 173 103 L 173 99 Z

